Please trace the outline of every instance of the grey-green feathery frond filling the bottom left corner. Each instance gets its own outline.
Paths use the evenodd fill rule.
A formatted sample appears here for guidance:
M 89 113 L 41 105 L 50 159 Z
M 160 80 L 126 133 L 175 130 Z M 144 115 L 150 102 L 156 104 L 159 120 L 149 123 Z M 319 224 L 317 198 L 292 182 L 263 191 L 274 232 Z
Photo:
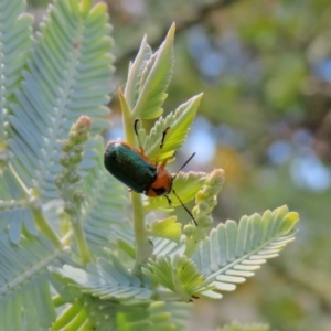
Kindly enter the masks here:
M 41 235 L 12 244 L 0 233 L 0 330 L 46 330 L 55 319 L 47 267 L 62 265 L 61 252 Z M 13 263 L 15 261 L 15 263 Z

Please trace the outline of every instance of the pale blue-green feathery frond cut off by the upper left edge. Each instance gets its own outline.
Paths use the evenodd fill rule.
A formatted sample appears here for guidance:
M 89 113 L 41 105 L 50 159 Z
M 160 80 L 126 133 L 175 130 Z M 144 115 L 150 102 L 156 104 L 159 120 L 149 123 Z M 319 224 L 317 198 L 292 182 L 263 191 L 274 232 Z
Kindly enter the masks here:
M 32 18 L 24 13 L 25 2 L 4 0 L 0 3 L 0 149 L 4 143 L 13 92 L 19 86 L 30 51 Z

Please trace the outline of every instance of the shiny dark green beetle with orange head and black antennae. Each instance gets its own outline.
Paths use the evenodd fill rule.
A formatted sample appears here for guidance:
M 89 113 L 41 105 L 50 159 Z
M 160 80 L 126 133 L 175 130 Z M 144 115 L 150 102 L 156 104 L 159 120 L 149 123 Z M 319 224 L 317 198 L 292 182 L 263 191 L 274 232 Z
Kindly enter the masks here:
M 162 134 L 159 153 L 153 162 L 145 154 L 137 130 L 138 121 L 139 119 L 135 120 L 134 129 L 138 137 L 139 150 L 120 139 L 110 140 L 107 143 L 104 153 L 105 168 L 117 180 L 126 184 L 132 191 L 143 193 L 150 197 L 164 196 L 168 200 L 169 205 L 171 205 L 171 200 L 168 194 L 172 192 L 197 226 L 192 213 L 186 209 L 181 199 L 177 195 L 175 191 L 172 189 L 173 181 L 175 180 L 178 172 L 180 172 L 191 161 L 195 153 L 185 161 L 175 174 L 170 174 L 166 169 L 166 166 L 173 156 L 163 160 L 159 166 L 160 152 L 170 127 L 166 128 Z

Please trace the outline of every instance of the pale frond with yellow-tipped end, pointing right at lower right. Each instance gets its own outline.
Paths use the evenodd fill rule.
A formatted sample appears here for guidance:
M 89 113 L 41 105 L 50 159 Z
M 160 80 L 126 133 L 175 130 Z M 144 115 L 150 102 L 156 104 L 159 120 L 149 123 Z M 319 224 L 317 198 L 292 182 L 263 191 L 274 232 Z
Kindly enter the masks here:
M 232 291 L 293 241 L 297 221 L 298 214 L 289 213 L 287 206 L 244 216 L 238 225 L 227 221 L 212 229 L 192 259 L 216 290 Z

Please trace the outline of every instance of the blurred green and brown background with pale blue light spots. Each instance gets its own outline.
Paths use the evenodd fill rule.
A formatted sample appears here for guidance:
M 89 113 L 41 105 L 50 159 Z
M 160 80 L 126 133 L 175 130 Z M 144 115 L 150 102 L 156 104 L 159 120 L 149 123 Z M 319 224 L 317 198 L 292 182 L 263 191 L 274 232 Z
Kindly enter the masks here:
M 41 18 L 49 1 L 28 1 Z M 331 330 L 331 1 L 107 0 L 114 90 L 143 34 L 157 50 L 177 23 L 166 114 L 204 92 L 173 171 L 223 168 L 216 222 L 287 204 L 297 241 L 221 301 L 195 300 L 188 330 L 233 320 L 279 331 Z M 38 22 L 36 22 L 38 26 Z M 109 137 L 120 137 L 111 103 Z M 181 211 L 179 211 L 181 213 Z M 183 213 L 182 218 L 188 216 Z

